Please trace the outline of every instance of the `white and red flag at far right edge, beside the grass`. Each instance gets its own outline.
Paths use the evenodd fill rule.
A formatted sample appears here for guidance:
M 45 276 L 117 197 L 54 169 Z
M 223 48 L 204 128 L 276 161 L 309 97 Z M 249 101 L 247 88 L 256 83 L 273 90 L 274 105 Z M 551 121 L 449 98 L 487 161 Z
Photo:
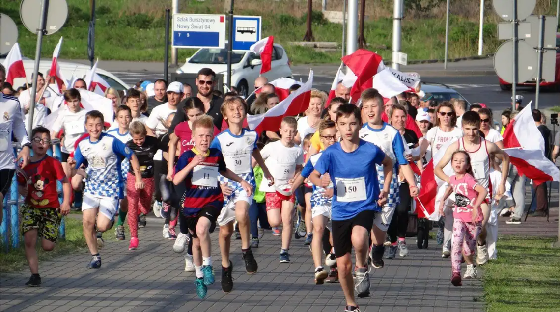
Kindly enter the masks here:
M 533 120 L 531 102 L 507 125 L 503 145 L 519 174 L 533 179 L 535 185 L 558 181 L 558 168 L 544 155 L 544 139 Z

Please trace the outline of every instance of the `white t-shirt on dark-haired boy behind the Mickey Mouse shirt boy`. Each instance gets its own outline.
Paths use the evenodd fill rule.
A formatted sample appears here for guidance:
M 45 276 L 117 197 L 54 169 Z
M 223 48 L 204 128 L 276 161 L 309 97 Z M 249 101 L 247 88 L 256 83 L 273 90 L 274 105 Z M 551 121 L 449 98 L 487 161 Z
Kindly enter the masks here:
M 79 112 L 71 112 L 70 110 L 60 110 L 57 119 L 53 124 L 53 133 L 58 134 L 60 129 L 64 129 L 64 145 L 61 150 L 64 153 L 74 152 L 74 143 L 86 133 L 86 110 L 81 109 Z

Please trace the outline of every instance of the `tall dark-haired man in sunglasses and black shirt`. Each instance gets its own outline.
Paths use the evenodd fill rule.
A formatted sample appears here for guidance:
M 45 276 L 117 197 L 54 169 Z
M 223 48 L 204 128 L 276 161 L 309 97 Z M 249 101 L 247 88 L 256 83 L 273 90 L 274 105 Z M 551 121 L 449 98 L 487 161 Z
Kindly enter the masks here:
M 214 125 L 218 129 L 221 129 L 223 116 L 220 111 L 220 107 L 222 106 L 223 98 L 212 94 L 212 91 L 214 91 L 215 78 L 216 73 L 214 73 L 212 69 L 203 68 L 198 71 L 197 79 L 195 79 L 194 83 L 198 89 L 197 97 L 204 103 L 206 115 L 212 117 Z M 184 102 L 182 102 L 179 106 L 183 107 Z M 169 127 L 169 135 L 173 133 L 175 127 L 180 124 L 180 122 L 186 120 L 185 110 L 177 110 L 175 117 L 171 122 L 171 126 Z

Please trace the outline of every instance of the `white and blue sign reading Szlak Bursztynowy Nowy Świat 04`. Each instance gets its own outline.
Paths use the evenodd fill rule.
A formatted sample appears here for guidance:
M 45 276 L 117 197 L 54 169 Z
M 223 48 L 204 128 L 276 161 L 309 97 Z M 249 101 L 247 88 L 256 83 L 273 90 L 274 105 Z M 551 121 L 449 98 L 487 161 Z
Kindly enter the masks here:
M 174 14 L 174 48 L 225 48 L 225 15 Z

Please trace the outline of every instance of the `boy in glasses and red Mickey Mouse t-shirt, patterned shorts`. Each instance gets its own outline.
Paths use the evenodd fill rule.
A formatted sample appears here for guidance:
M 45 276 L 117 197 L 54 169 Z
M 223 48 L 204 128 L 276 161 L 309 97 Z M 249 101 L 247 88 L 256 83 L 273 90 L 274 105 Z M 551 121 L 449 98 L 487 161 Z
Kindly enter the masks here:
M 18 191 L 25 197 L 21 206 L 21 231 L 24 235 L 25 257 L 29 263 L 31 277 L 25 283 L 28 287 L 41 285 L 39 275 L 39 261 L 35 244 L 40 234 L 41 247 L 46 252 L 54 249 L 58 238 L 58 226 L 61 215 L 70 211 L 70 196 L 72 187 L 64 173 L 62 164 L 46 154 L 50 148 L 50 131 L 45 127 L 36 127 L 31 134 L 33 155 L 30 163 L 25 166 L 23 174 L 18 174 Z M 62 205 L 58 200 L 57 181 L 62 182 L 64 200 Z

